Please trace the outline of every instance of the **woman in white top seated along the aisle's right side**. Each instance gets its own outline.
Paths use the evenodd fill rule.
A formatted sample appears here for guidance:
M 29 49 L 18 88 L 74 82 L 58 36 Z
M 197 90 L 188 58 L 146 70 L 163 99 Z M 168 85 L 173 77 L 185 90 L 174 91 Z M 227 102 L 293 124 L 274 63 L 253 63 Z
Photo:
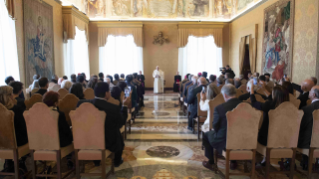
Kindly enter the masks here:
M 199 103 L 200 110 L 207 111 L 207 119 L 205 120 L 204 124 L 202 125 L 202 132 L 208 132 L 209 126 L 210 126 L 210 113 L 213 111 L 210 111 L 209 108 L 209 101 L 213 100 L 218 94 L 220 93 L 219 88 L 216 84 L 211 83 L 207 86 L 207 92 L 201 93 L 201 101 Z

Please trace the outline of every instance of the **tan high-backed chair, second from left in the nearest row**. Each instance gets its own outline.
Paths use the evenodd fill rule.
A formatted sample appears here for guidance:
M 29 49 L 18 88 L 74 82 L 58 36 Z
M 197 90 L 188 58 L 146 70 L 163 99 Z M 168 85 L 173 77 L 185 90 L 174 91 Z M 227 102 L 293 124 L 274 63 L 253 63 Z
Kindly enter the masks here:
M 44 103 L 36 103 L 29 111 L 25 111 L 23 116 L 28 131 L 33 179 L 36 177 L 62 178 L 61 160 L 74 152 L 74 147 L 73 144 L 60 147 L 59 113 L 51 110 Z M 36 161 L 55 161 L 57 175 L 37 174 Z M 63 178 L 67 177 L 71 172 L 73 170 L 68 171 Z

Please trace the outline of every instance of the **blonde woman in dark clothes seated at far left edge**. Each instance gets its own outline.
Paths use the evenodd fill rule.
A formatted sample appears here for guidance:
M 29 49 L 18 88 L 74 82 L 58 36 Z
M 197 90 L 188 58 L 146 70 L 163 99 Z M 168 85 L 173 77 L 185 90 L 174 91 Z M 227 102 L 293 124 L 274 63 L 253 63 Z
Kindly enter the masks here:
M 23 146 L 28 143 L 27 127 L 23 117 L 23 109 L 15 105 L 16 101 L 13 96 L 13 88 L 10 86 L 0 86 L 0 103 L 6 107 L 8 110 L 14 113 L 14 129 L 17 146 Z M 0 118 L 0 123 L 1 123 Z M 1 131 L 0 131 L 1 132 Z M 27 168 L 25 167 L 25 158 L 20 161 L 20 168 L 24 169 L 25 172 Z M 1 172 L 13 172 L 14 163 L 12 160 L 6 160 L 4 164 L 4 169 Z

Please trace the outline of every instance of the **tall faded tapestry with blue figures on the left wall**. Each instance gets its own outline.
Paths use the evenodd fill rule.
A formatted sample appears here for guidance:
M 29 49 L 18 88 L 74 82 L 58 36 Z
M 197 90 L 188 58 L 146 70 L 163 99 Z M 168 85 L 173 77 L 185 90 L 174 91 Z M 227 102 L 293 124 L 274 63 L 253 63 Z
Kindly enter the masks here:
M 26 85 L 39 74 L 49 80 L 54 74 L 53 9 L 39 0 L 24 0 Z

